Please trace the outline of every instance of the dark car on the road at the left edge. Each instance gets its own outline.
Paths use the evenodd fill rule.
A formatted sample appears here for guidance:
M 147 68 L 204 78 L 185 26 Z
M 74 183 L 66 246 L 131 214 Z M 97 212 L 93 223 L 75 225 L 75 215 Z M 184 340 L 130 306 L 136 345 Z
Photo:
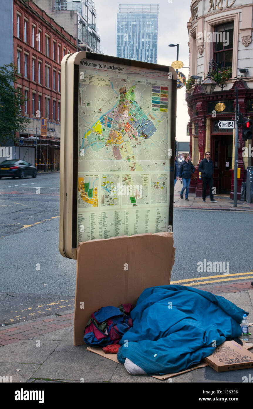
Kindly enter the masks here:
M 0 163 L 0 179 L 1 178 L 20 178 L 23 179 L 26 176 L 32 176 L 36 178 L 37 169 L 33 164 L 26 162 L 25 160 L 12 159 L 4 160 Z

